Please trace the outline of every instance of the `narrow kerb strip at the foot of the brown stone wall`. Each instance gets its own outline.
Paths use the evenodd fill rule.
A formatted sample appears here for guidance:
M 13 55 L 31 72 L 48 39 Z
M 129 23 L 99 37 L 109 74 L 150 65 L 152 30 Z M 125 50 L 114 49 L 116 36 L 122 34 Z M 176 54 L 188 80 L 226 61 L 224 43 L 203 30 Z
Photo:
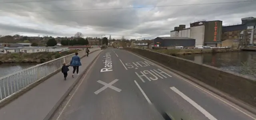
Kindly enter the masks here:
M 125 49 L 123 49 L 123 50 L 125 50 Z M 128 50 L 125 50 L 125 51 L 128 51 Z M 180 77 L 183 77 L 183 78 L 185 78 L 185 79 L 188 79 L 189 81 L 192 81 L 193 83 L 196 83 L 197 85 L 203 87 L 204 89 L 207 89 L 207 90 L 209 90 L 210 92 L 213 92 L 214 94 L 217 94 L 218 96 L 221 96 L 222 98 L 224 98 L 224 99 L 226 99 L 226 100 L 228 100 L 228 101 L 230 101 L 230 102 L 232 102 L 232 103 L 234 103 L 234 104 L 240 106 L 241 108 L 247 110 L 248 112 L 251 112 L 252 114 L 255 114 L 255 115 L 256 115 L 256 108 L 254 108 L 254 107 L 251 106 L 250 104 L 247 104 L 247 103 L 245 103 L 245 102 L 243 102 L 243 101 L 241 101 L 241 100 L 238 100 L 238 99 L 236 99 L 236 98 L 230 96 L 229 94 L 226 94 L 226 93 L 224 93 L 224 92 L 222 92 L 222 91 L 220 91 L 220 90 L 218 90 L 218 89 L 215 89 L 214 87 L 211 87 L 210 85 L 207 85 L 207 84 L 205 84 L 205 83 L 203 83 L 203 82 L 201 82 L 201 81 L 199 81 L 199 80 L 197 80 L 197 79 L 195 79 L 195 78 L 193 78 L 193 77 L 190 77 L 190 76 L 188 76 L 188 75 L 186 75 L 186 74 L 184 74 L 184 73 L 182 73 L 182 72 L 180 72 L 180 71 L 176 71 L 176 70 L 174 70 L 174 69 L 171 69 L 171 68 L 169 68 L 169 67 L 166 67 L 165 65 L 163 65 L 163 64 L 161 64 L 161 63 L 158 63 L 158 62 L 156 62 L 156 61 L 154 61 L 154 60 L 148 59 L 147 57 L 144 57 L 144 56 L 139 55 L 139 54 L 137 54 L 137 53 L 133 53 L 133 52 L 131 52 L 131 51 L 128 51 L 128 52 L 129 52 L 129 53 L 132 53 L 132 54 L 134 54 L 134 55 L 136 55 L 136 56 L 138 56 L 138 57 L 142 57 L 142 58 L 144 58 L 144 59 L 146 59 L 146 60 L 148 60 L 148 61 L 151 61 L 151 62 L 153 62 L 153 63 L 155 63 L 155 64 L 157 64 L 157 65 L 159 65 L 159 66 L 161 66 L 161 67 L 163 67 L 163 68 L 165 68 L 165 69 L 167 69 L 167 70 L 173 72 L 173 73 L 176 73 L 176 74 L 179 75 Z

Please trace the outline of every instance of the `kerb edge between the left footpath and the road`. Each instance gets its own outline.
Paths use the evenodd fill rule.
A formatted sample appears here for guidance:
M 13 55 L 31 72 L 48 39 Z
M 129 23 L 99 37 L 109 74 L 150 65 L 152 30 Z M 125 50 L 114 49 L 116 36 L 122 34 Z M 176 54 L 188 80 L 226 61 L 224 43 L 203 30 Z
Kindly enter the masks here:
M 100 49 L 98 49 L 100 50 Z M 95 51 L 98 51 L 95 50 Z M 94 52 L 94 51 L 93 51 Z M 93 53 L 91 52 L 91 53 Z M 100 54 L 98 54 L 92 61 L 92 63 L 98 58 Z M 85 57 L 86 55 L 84 55 Z M 65 100 L 65 98 L 68 96 L 68 94 L 71 92 L 72 89 L 74 89 L 74 87 L 76 86 L 76 84 L 79 82 L 79 80 L 83 77 L 84 73 L 86 73 L 86 71 L 90 68 L 92 64 L 90 63 L 86 69 L 84 71 L 82 71 L 83 74 L 80 74 L 78 76 L 78 78 L 75 80 L 75 82 L 68 88 L 68 90 L 65 92 L 65 94 L 60 98 L 60 100 L 54 105 L 54 107 L 52 108 L 52 110 L 50 110 L 50 112 L 46 115 L 46 117 L 44 118 L 44 120 L 49 120 L 54 113 L 56 112 L 56 110 L 58 109 L 58 107 L 62 104 L 62 102 Z

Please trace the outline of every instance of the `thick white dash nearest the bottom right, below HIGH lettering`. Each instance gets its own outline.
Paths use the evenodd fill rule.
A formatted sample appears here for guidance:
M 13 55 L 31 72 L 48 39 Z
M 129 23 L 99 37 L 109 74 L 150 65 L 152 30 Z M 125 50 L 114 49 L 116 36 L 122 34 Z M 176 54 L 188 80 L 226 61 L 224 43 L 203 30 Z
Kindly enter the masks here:
M 184 98 L 186 101 L 188 101 L 190 104 L 192 104 L 192 106 L 194 106 L 196 109 L 198 109 L 200 112 L 202 112 L 202 114 L 204 114 L 204 116 L 206 116 L 207 118 L 209 118 L 209 120 L 217 120 L 216 118 L 214 118 L 214 116 L 212 116 L 209 112 L 207 112 L 206 110 L 204 110 L 204 108 L 202 108 L 200 105 L 198 105 L 196 102 L 194 102 L 193 100 L 191 100 L 188 96 L 186 96 L 185 94 L 183 94 L 182 92 L 180 92 L 180 90 L 176 89 L 175 87 L 170 87 L 170 89 L 172 89 L 174 92 L 176 92 L 177 94 L 179 94 L 182 98 Z

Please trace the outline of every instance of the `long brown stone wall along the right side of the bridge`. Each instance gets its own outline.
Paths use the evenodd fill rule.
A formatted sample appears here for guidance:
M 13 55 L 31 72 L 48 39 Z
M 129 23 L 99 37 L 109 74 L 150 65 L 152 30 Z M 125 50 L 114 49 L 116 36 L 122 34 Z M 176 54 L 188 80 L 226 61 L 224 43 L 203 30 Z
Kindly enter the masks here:
M 185 73 L 256 107 L 256 81 L 254 81 L 254 78 L 147 49 L 131 47 L 125 47 L 124 49 Z

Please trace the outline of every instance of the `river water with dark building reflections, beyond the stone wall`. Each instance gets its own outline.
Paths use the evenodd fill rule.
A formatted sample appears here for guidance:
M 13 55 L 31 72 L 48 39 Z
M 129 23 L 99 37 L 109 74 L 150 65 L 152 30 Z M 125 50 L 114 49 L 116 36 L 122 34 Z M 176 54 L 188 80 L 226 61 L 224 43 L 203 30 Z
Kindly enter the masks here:
M 204 53 L 192 55 L 180 55 L 184 59 L 195 61 L 196 63 L 211 65 L 222 69 L 241 73 L 243 62 L 248 62 L 249 65 L 255 65 L 256 52 L 240 51 L 227 53 Z

